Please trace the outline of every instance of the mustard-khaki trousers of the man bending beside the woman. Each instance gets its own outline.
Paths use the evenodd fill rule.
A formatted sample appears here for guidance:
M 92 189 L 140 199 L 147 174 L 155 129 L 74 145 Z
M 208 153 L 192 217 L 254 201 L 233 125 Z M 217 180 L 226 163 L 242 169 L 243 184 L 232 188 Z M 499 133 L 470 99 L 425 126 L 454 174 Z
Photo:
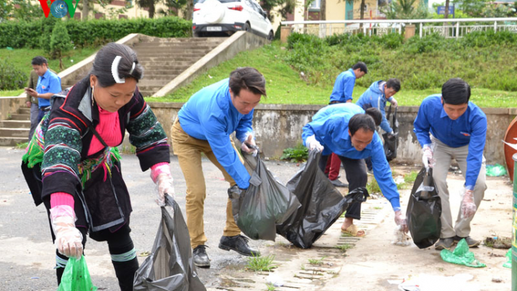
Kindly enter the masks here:
M 203 221 L 206 185 L 205 177 L 203 176 L 203 168 L 201 166 L 201 152 L 223 172 L 223 176 L 225 180 L 230 183 L 230 186 L 236 185 L 236 183 L 219 161 L 217 161 L 208 141 L 190 137 L 190 135 L 183 131 L 183 128 L 181 128 L 179 124 L 179 119 L 177 118 L 172 126 L 171 137 L 174 154 L 178 156 L 179 166 L 185 177 L 185 183 L 187 184 L 187 227 L 190 234 L 190 245 L 192 245 L 192 249 L 194 249 L 198 245 L 204 245 L 207 241 Z M 233 141 L 232 146 L 235 151 L 237 151 Z M 239 152 L 237 153 L 239 155 Z M 239 159 L 241 159 L 241 162 L 244 162 L 240 155 Z M 241 230 L 232 216 L 232 201 L 228 199 L 226 204 L 226 225 L 223 235 L 225 237 L 233 237 L 238 234 L 241 234 Z

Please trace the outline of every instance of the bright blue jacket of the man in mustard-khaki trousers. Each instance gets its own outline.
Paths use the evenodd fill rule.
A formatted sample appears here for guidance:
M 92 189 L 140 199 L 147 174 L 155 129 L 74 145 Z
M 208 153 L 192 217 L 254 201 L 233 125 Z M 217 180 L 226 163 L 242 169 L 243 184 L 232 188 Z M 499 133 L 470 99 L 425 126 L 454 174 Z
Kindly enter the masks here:
M 235 132 L 241 142 L 248 132 L 253 134 L 253 112 L 244 115 L 236 110 L 229 79 L 199 90 L 178 112 L 181 128 L 191 137 L 208 141 L 217 161 L 243 189 L 250 185 L 250 174 L 234 150 L 230 134 Z

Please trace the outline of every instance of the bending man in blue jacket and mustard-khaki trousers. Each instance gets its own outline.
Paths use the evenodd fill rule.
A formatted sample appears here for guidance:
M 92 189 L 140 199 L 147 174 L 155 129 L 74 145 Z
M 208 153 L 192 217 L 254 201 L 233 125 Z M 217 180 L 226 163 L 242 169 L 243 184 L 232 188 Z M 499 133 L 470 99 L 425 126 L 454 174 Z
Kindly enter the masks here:
M 203 208 L 206 197 L 201 152 L 223 172 L 230 185 L 247 189 L 250 175 L 243 165 L 230 134 L 236 133 L 243 152 L 256 154 L 252 128 L 253 110 L 266 96 L 265 79 L 254 68 L 239 68 L 224 79 L 207 86 L 183 105 L 172 127 L 172 146 L 187 183 L 186 210 L 193 261 L 209 268 L 206 253 Z M 225 195 L 227 198 L 227 196 Z M 227 199 L 226 225 L 219 248 L 234 250 L 245 256 L 259 256 L 247 245 L 232 216 L 232 201 Z

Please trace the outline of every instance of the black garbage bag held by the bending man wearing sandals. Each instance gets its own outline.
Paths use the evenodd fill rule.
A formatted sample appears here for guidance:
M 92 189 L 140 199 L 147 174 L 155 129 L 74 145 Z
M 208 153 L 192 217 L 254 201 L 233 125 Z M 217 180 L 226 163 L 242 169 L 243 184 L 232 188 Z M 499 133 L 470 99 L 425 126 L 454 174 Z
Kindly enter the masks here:
M 321 153 L 309 151 L 305 167 L 287 182 L 287 188 L 298 197 L 298 208 L 284 223 L 276 225 L 276 233 L 298 248 L 310 248 L 347 210 L 352 202 L 364 202 L 366 188 L 357 188 L 343 197 L 318 167 Z

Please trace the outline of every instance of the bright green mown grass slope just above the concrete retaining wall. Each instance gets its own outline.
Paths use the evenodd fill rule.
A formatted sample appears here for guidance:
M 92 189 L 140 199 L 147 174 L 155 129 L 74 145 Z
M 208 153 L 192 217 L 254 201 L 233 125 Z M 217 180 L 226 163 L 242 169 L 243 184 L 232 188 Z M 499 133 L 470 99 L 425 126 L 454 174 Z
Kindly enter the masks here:
M 241 52 L 233 59 L 208 70 L 208 72 L 194 79 L 189 85 L 176 90 L 176 92 L 165 97 L 146 97 L 146 100 L 185 102 L 201 88 L 227 78 L 235 68 L 251 66 L 264 74 L 267 80 L 267 99 L 263 99 L 262 103 L 327 104 L 332 86 L 307 85 L 301 73 L 296 72 L 283 61 L 287 53 L 287 49 L 276 42 L 256 50 Z M 354 101 L 357 101 L 366 89 L 356 86 L 353 94 Z M 400 106 L 418 106 L 425 97 L 440 92 L 441 88 L 404 90 L 404 84 L 402 84 L 402 90 L 395 95 L 395 98 Z M 472 88 L 471 101 L 480 107 L 517 107 L 517 92 Z

